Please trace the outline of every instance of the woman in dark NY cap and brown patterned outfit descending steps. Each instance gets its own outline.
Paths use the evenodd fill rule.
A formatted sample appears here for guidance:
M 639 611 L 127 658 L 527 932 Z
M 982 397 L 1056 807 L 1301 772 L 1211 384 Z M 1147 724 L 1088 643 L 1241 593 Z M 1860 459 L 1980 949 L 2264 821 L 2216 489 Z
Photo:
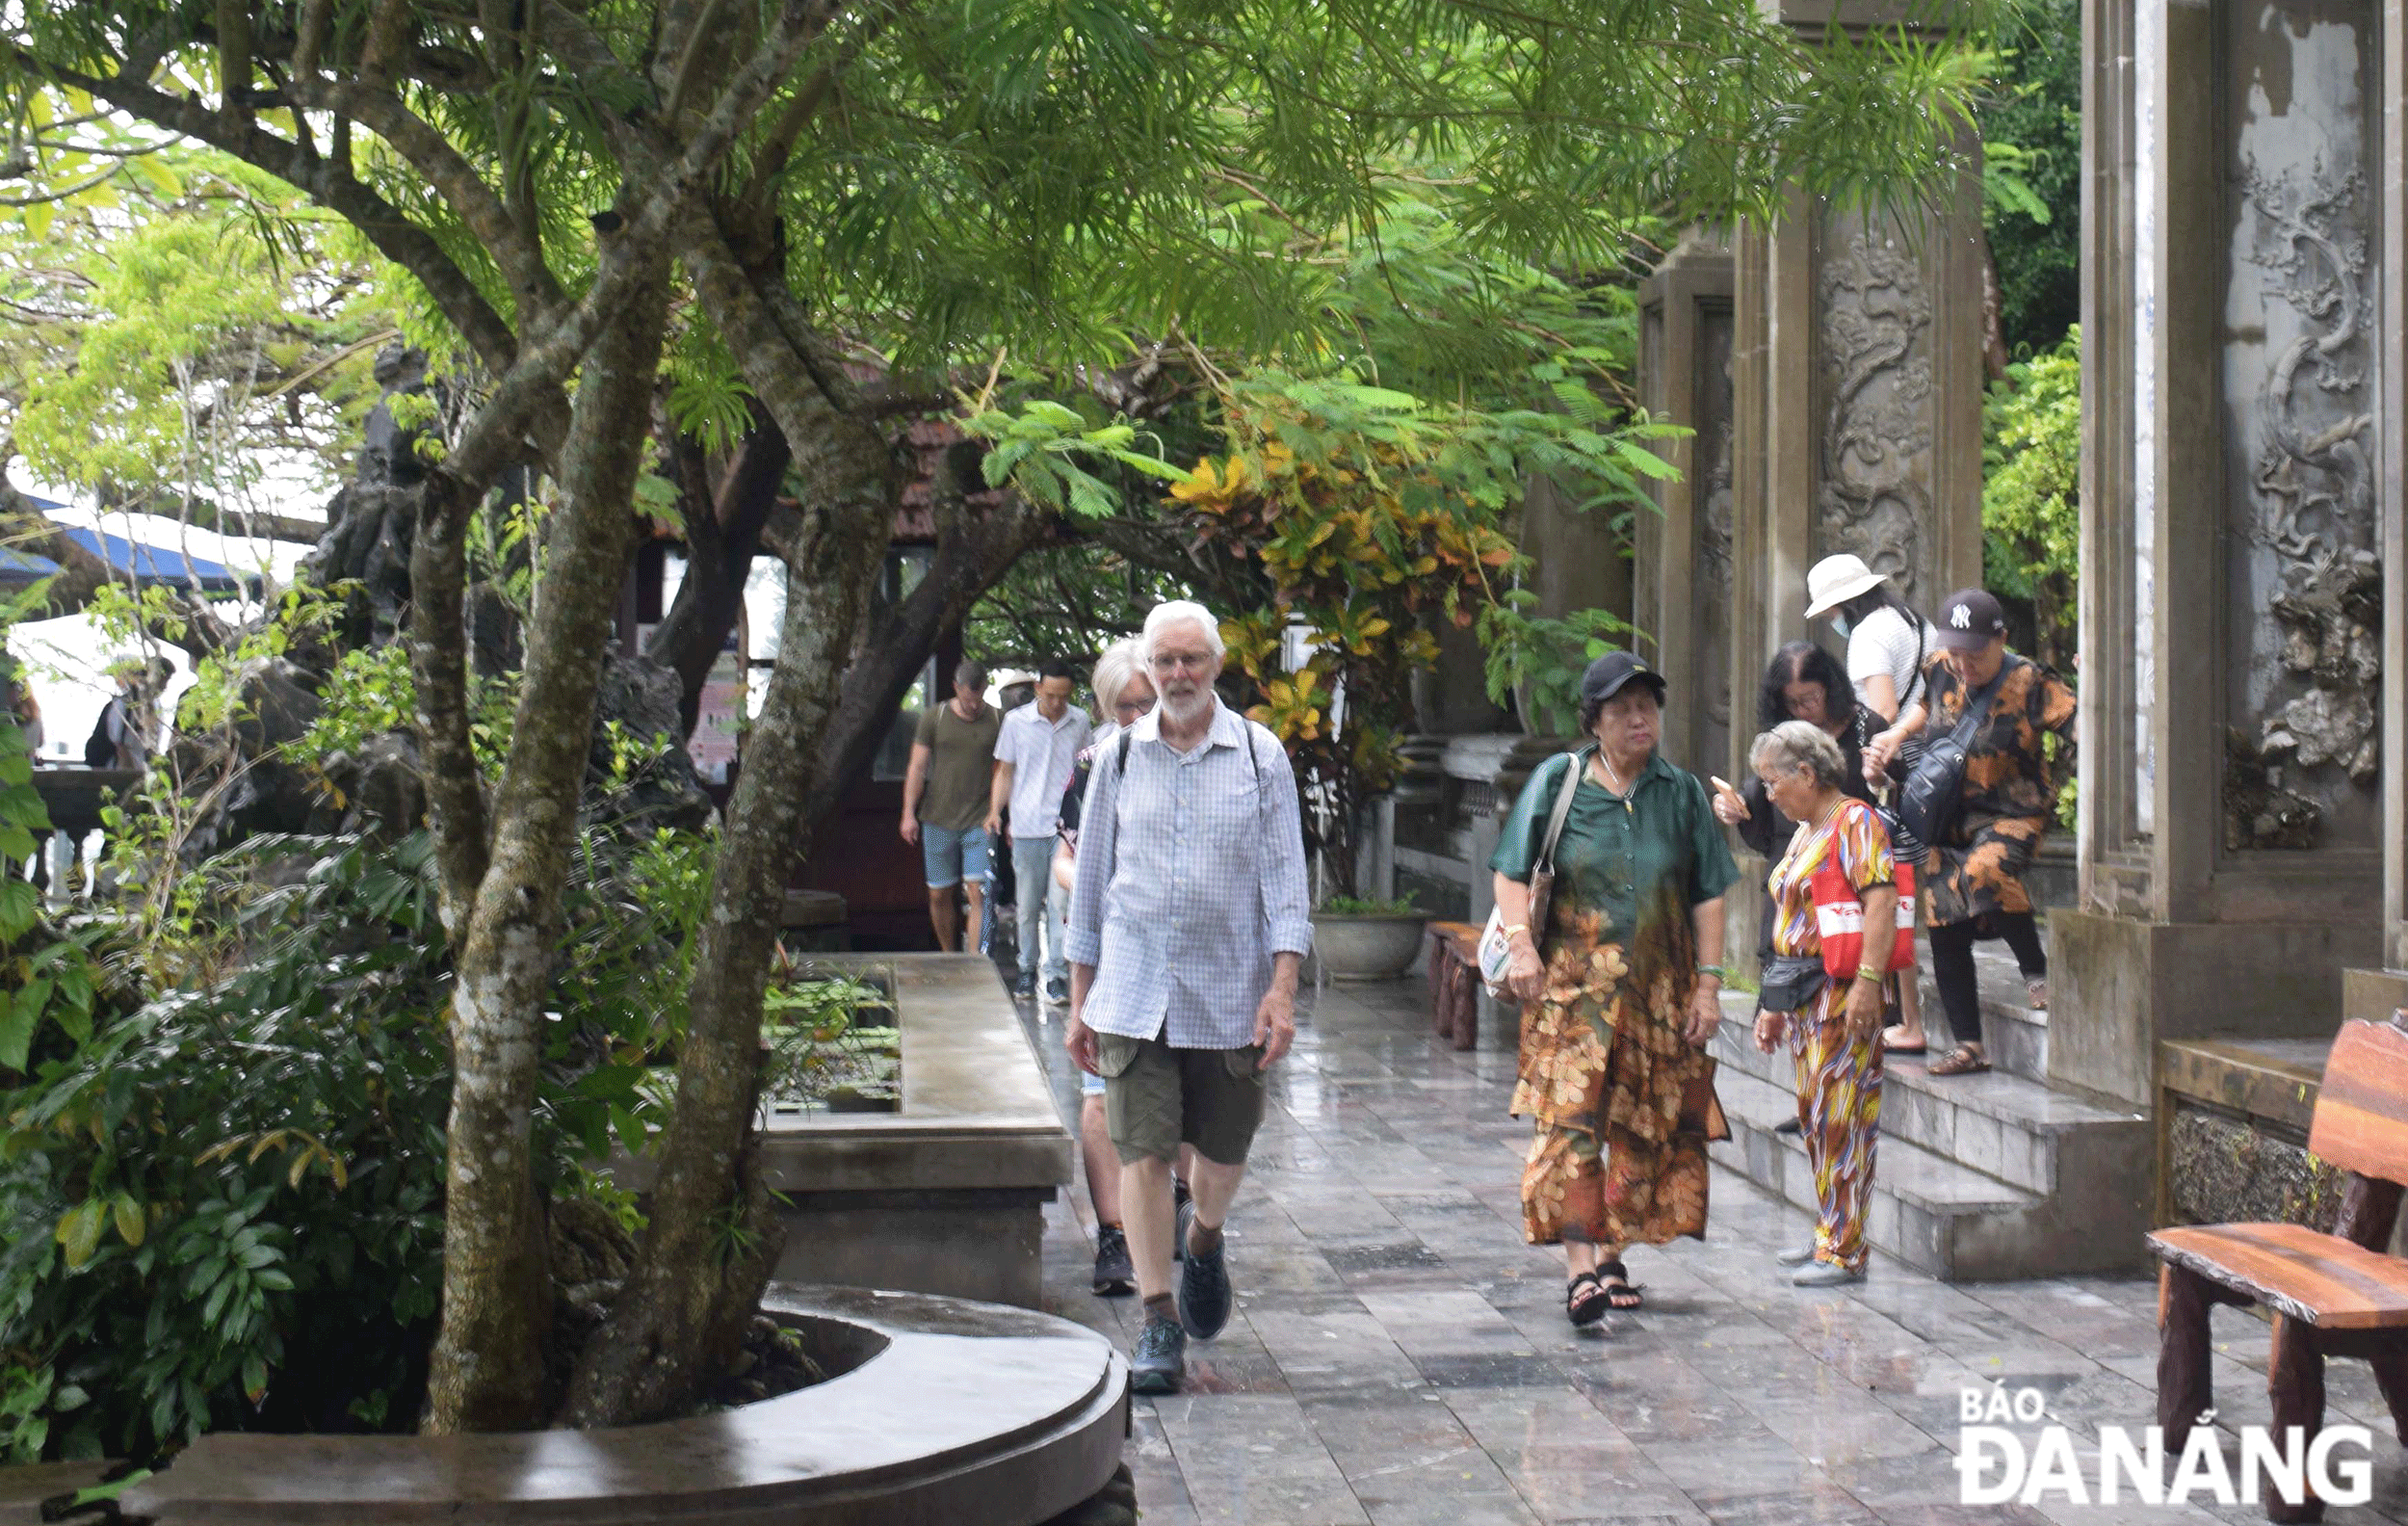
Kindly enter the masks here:
M 1965 741 L 1965 792 L 1955 823 L 1941 830 L 1924 864 L 1931 907 L 1931 982 L 1958 1045 L 1931 1061 L 1934 1076 L 1987 1071 L 1975 939 L 2006 939 L 2023 968 L 2032 1006 L 2049 1004 L 2049 958 L 2023 888 L 2040 838 L 2056 811 L 2056 780 L 2042 744 L 2054 732 L 2073 746 L 2073 691 L 2049 669 L 2006 650 L 2006 611 L 1979 587 L 1948 595 L 1934 621 L 1941 655 L 1924 669 L 1929 700 L 1864 749 L 1866 775 L 1885 770 L 1905 739 L 1955 732 L 1967 703 L 1979 705 Z

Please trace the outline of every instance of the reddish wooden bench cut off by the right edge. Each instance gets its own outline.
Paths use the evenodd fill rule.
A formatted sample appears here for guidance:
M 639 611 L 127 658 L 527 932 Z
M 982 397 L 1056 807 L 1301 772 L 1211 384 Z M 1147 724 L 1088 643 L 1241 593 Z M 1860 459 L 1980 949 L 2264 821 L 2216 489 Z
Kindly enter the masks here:
M 2365 1358 L 2408 1442 L 2408 1261 L 2384 1254 L 2408 1179 L 2408 1011 L 2389 1023 L 2343 1023 L 2324 1061 L 2307 1148 L 2348 1172 L 2331 1235 L 2302 1225 L 2196 1225 L 2158 1230 L 2158 1423 L 2167 1459 L 2215 1398 L 2208 1312 L 2261 1305 L 2273 1317 L 2266 1391 L 2273 1437 L 2324 1427 L 2324 1358 Z M 2324 1502 L 2268 1500 L 2268 1521 L 2316 1521 Z

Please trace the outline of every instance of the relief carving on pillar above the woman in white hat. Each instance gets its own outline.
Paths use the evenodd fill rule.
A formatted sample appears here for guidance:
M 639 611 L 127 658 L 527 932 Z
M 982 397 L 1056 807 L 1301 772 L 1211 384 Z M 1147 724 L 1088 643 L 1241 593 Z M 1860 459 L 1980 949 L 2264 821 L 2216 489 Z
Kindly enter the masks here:
M 1866 231 L 1820 272 L 1820 551 L 1854 551 L 1907 599 L 1931 515 L 1931 294 L 1914 253 Z

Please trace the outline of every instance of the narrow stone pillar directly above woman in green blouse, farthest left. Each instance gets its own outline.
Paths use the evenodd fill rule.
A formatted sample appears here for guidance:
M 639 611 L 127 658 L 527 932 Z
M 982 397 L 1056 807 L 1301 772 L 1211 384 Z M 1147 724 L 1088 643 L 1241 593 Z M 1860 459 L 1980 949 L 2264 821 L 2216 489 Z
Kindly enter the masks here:
M 1664 443 L 1681 474 L 1652 486 L 1633 530 L 1637 650 L 1664 674 L 1664 756 L 1729 777 L 1731 729 L 1755 720 L 1731 688 L 1731 253 L 1690 233 L 1640 286 L 1640 400 L 1690 433 Z

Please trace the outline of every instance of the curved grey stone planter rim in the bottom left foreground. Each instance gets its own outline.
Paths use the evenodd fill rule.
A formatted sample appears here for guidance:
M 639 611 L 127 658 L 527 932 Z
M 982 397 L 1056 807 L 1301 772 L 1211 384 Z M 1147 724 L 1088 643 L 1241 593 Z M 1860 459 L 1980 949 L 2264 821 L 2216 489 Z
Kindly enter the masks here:
M 920 1293 L 773 1285 L 836 1372 L 744 1408 L 477 1437 L 207 1435 L 125 1521 L 1035 1526 L 1120 1468 L 1129 1365 L 1067 1319 Z

